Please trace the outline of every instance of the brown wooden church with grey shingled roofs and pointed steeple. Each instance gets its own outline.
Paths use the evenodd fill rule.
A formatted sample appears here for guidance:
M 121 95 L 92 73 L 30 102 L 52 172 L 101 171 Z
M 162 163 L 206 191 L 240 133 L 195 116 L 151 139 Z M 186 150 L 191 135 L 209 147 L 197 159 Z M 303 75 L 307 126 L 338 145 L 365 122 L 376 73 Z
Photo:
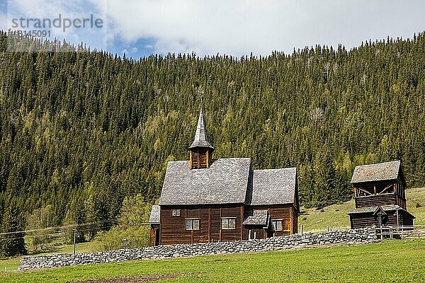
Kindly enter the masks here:
M 297 170 L 253 170 L 251 158 L 212 159 L 202 108 L 189 161 L 169 162 L 150 245 L 241 241 L 297 233 Z

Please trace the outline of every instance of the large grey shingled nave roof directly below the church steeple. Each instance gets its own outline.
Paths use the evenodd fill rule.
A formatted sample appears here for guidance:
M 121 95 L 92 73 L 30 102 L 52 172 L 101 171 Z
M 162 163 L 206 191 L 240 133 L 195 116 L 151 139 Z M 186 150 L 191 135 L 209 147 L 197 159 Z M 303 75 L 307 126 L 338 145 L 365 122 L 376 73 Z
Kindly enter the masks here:
M 159 205 L 244 203 L 251 158 L 213 159 L 210 168 L 190 169 L 189 161 L 166 168 Z

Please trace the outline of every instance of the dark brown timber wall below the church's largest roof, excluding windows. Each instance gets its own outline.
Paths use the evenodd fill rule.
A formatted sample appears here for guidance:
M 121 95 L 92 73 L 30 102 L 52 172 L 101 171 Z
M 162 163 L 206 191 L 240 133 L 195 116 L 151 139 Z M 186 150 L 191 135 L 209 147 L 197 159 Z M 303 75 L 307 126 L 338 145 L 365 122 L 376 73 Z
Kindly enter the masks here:
M 233 207 L 191 207 L 181 209 L 180 216 L 171 216 L 171 207 L 161 209 L 161 244 L 208 243 L 210 241 L 242 240 L 242 205 Z M 222 217 L 235 217 L 236 229 L 221 229 Z M 199 230 L 186 230 L 187 218 L 200 219 Z

